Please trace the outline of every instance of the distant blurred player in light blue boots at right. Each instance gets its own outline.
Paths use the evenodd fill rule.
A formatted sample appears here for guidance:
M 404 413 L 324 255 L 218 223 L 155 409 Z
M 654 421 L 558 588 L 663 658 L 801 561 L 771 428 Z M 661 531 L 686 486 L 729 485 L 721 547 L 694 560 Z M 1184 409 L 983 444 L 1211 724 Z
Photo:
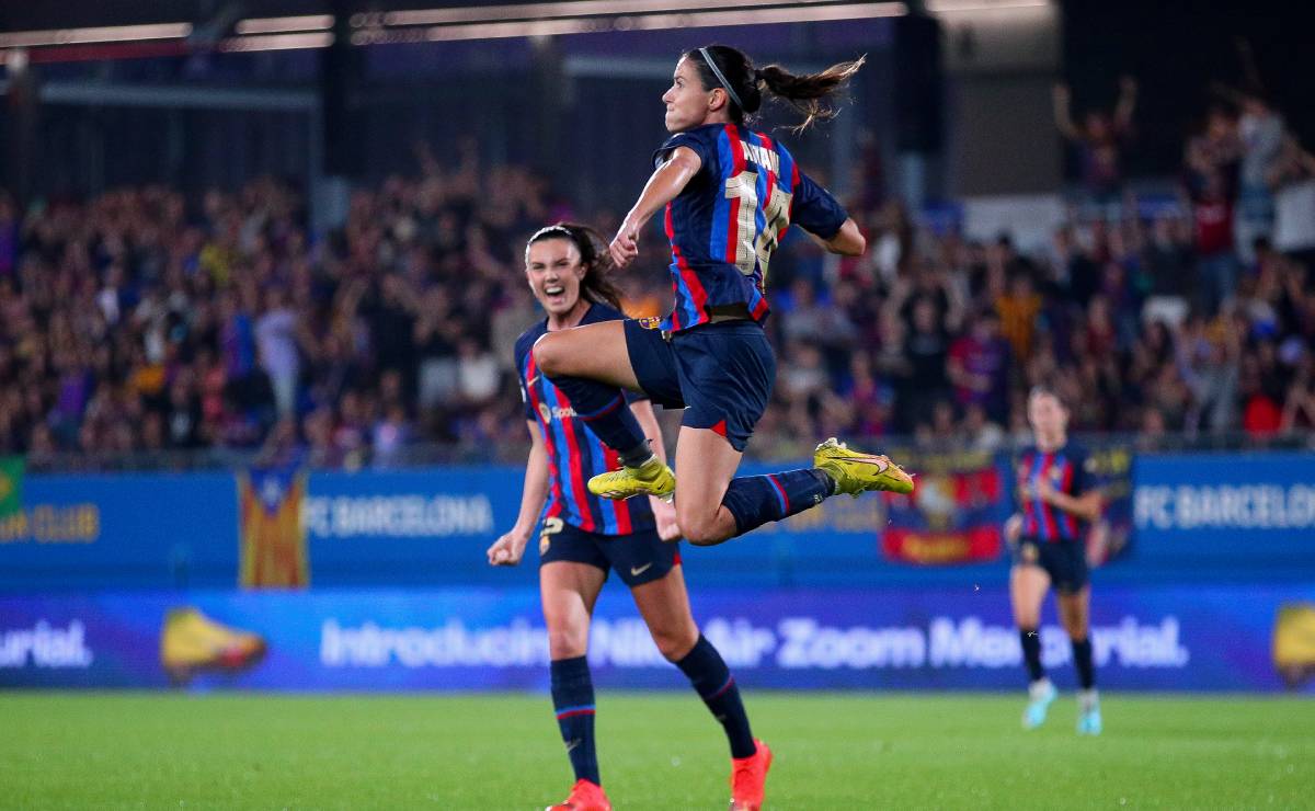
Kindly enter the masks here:
M 1032 389 L 1027 419 L 1036 444 L 1018 463 L 1018 501 L 1022 511 L 1010 517 L 1005 536 L 1014 549 L 1009 594 L 1031 678 L 1023 727 L 1045 722 L 1055 701 L 1055 685 L 1041 666 L 1041 602 L 1055 586 L 1060 622 L 1073 641 L 1077 666 L 1078 735 L 1101 733 L 1101 702 L 1095 693 L 1091 640 L 1088 639 L 1091 584 L 1082 543 L 1086 524 L 1101 517 L 1101 492 L 1091 486 L 1086 452 L 1068 440 L 1068 409 L 1045 388 Z

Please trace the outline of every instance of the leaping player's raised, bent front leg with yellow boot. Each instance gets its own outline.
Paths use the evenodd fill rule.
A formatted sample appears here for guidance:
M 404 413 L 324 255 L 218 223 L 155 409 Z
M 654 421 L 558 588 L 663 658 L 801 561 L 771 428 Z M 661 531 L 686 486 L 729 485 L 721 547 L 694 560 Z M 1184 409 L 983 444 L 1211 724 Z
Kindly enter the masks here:
M 550 333 L 534 344 L 534 360 L 575 405 L 576 417 L 621 455 L 625 465 L 621 476 L 597 477 L 597 482 L 589 482 L 589 489 L 614 498 L 642 493 L 668 498 L 675 488 L 671 468 L 654 455 L 626 406 L 622 389 L 638 392 L 640 386 L 630 365 L 622 322 Z M 626 484 L 630 488 L 617 489 Z

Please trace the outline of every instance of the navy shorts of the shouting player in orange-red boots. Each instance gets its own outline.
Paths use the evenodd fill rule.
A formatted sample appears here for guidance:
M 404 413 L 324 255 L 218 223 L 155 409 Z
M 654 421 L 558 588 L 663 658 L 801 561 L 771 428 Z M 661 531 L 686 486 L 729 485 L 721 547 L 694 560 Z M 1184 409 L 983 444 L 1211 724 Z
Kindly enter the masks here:
M 621 582 L 634 588 L 665 577 L 680 563 L 680 544 L 663 542 L 658 530 L 600 535 L 546 518 L 539 532 L 539 565 L 555 560 L 588 564 L 604 573 L 615 569 Z

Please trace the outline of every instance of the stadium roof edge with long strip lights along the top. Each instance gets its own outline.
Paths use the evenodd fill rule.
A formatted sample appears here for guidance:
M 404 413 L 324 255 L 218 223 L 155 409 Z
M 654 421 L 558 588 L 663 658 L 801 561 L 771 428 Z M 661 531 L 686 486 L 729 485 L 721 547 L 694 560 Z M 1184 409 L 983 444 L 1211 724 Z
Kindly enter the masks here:
M 0 9 L 0 62 L 317 49 L 1011 9 L 1049 0 L 75 0 Z

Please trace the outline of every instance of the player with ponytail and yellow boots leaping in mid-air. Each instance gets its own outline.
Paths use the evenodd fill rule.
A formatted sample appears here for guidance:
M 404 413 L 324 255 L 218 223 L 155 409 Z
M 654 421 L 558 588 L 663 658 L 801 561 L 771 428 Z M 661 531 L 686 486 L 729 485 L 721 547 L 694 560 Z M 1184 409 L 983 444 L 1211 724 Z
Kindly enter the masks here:
M 639 252 L 639 233 L 665 210 L 672 250 L 673 312 L 658 323 L 609 321 L 544 336 L 535 361 L 565 392 L 581 419 L 619 452 L 623 468 L 589 489 L 609 498 L 669 498 L 684 536 L 722 543 L 822 502 L 835 493 L 910 493 L 913 480 L 885 456 L 851 451 L 835 439 L 818 446 L 813 467 L 735 478 L 753 425 L 776 380 L 763 333 L 768 263 L 793 222 L 828 251 L 860 255 L 865 241 L 843 208 L 800 172 L 781 143 L 744 126 L 767 93 L 807 118 L 828 118 L 825 104 L 859 62 L 797 76 L 755 68 L 743 53 L 714 45 L 684 54 L 663 95 L 667 129 L 658 164 L 626 216 L 610 251 L 619 267 Z M 665 407 L 684 407 L 676 468 L 650 450 L 621 389 Z

